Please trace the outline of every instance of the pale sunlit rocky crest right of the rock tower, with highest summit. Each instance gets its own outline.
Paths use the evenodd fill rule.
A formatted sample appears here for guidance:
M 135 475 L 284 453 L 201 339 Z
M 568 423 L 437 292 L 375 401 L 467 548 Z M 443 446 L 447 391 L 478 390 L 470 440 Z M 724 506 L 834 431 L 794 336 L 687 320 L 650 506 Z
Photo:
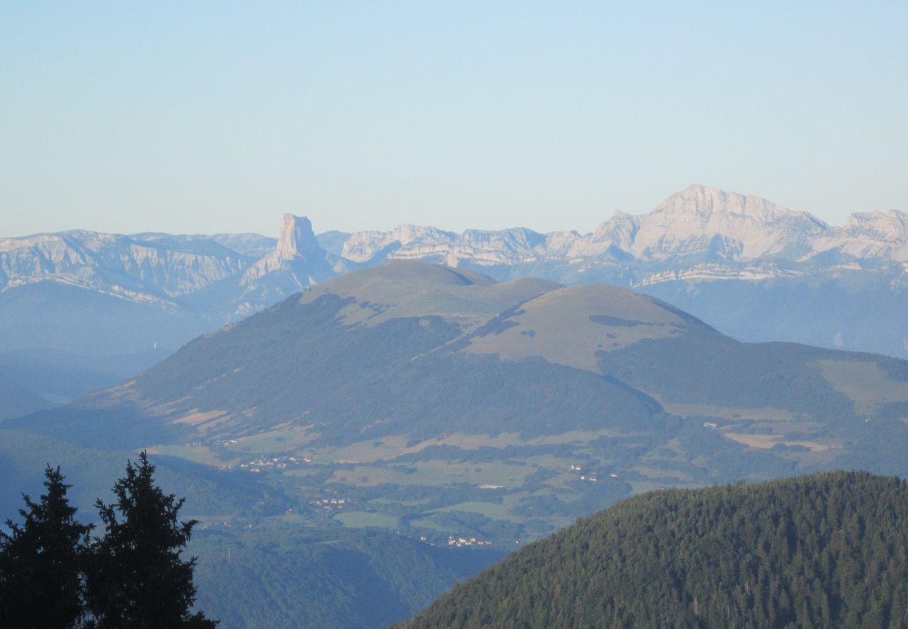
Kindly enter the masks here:
M 908 218 L 895 211 L 855 214 L 844 227 L 834 227 L 757 196 L 691 185 L 646 215 L 617 212 L 587 235 L 525 228 L 453 234 L 401 225 L 391 232 L 354 233 L 341 255 L 359 264 L 431 259 L 449 265 L 616 263 L 679 270 L 703 264 L 796 263 L 829 250 L 857 259 L 908 261 Z

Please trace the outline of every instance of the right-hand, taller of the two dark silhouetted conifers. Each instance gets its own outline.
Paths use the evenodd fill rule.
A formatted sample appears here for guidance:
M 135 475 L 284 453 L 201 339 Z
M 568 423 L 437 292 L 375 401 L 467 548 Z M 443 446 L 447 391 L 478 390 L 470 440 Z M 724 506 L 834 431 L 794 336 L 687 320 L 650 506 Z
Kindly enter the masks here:
M 90 625 L 99 629 L 217 624 L 191 614 L 196 560 L 184 561 L 181 553 L 196 522 L 178 521 L 183 499 L 154 484 L 154 469 L 143 452 L 114 484 L 116 502 L 96 503 L 105 534 L 91 548 L 85 576 Z

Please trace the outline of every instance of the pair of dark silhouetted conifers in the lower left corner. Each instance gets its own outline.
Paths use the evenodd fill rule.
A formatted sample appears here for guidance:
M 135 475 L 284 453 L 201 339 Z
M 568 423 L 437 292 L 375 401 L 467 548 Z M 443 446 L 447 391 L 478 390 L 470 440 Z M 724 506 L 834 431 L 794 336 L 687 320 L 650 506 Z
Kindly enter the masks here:
M 183 499 L 154 482 L 145 453 L 114 484 L 115 502 L 95 503 L 104 534 L 75 519 L 60 468 L 44 472 L 46 493 L 25 495 L 21 523 L 0 531 L 0 626 L 190 627 L 217 622 L 192 612 L 195 558 L 181 556 L 196 522 L 179 521 Z

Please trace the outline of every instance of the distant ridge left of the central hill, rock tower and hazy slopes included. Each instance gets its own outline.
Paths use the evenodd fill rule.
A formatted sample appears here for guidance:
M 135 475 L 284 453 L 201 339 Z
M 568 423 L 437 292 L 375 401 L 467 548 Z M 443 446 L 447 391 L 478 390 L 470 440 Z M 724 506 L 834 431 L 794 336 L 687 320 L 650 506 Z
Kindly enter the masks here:
M 4 238 L 0 352 L 166 353 L 343 270 L 309 220 L 292 215 L 280 241 L 86 231 Z

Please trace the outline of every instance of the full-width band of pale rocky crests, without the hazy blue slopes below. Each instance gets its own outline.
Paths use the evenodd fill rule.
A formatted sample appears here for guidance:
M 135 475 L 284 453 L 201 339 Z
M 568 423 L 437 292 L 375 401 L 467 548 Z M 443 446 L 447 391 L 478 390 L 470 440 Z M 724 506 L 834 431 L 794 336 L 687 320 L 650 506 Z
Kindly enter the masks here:
M 692 185 L 646 215 L 617 212 L 585 235 L 523 227 L 456 234 L 400 225 L 390 232 L 335 233 L 330 248 L 333 253 L 319 244 L 308 218 L 290 214 L 282 218 L 276 243 L 254 234 L 71 231 L 0 238 L 0 291 L 56 282 L 169 307 L 216 285 L 218 299 L 241 304 L 234 314 L 242 314 L 351 268 L 390 259 L 509 267 L 502 272 L 508 276 L 532 268 L 568 283 L 637 286 L 682 278 L 764 280 L 842 265 L 882 265 L 904 275 L 908 215 L 854 214 L 837 227 L 753 195 Z

